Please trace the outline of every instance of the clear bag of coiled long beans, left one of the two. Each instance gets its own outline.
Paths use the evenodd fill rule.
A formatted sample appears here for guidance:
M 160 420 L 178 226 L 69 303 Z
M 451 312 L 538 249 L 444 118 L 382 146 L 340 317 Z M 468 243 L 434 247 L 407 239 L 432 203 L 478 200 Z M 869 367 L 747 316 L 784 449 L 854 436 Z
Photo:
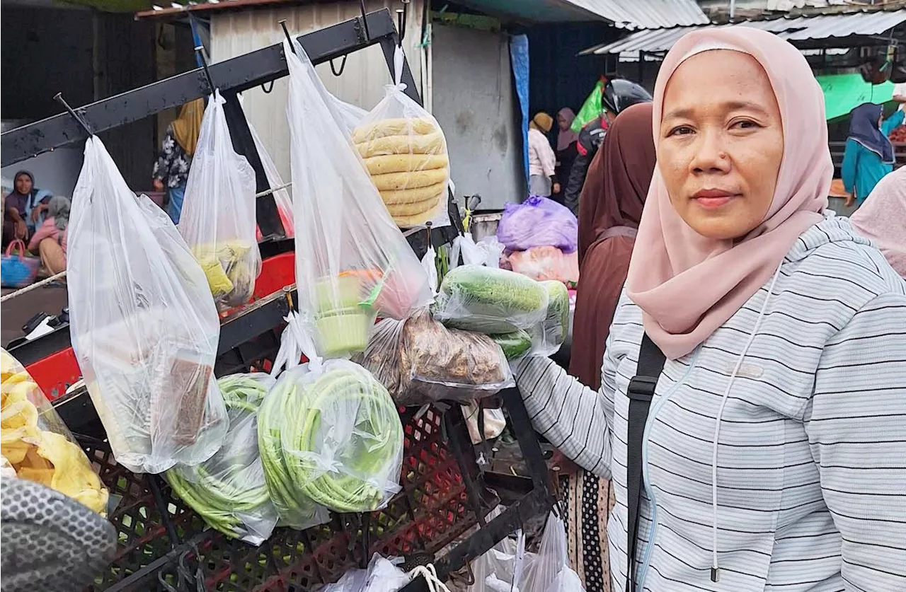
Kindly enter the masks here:
M 167 472 L 173 491 L 209 526 L 252 545 L 268 539 L 277 523 L 258 454 L 258 411 L 274 383 L 261 373 L 217 380 L 229 414 L 223 447 L 204 463 Z

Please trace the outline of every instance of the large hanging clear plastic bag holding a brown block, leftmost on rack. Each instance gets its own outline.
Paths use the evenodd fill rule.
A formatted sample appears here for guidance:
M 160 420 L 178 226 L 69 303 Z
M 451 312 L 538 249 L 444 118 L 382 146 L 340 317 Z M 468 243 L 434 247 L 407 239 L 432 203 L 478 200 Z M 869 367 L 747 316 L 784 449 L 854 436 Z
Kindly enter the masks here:
M 70 334 L 118 463 L 163 473 L 223 444 L 220 338 L 205 273 L 169 217 L 89 138 L 72 194 Z

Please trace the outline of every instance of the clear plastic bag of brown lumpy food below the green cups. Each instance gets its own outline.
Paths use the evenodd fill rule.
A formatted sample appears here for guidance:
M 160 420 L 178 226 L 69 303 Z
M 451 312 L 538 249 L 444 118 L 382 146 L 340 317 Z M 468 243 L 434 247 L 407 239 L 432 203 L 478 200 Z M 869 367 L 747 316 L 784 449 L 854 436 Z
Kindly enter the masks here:
M 503 351 L 486 335 L 447 329 L 428 310 L 381 320 L 358 358 L 398 405 L 468 401 L 515 383 Z

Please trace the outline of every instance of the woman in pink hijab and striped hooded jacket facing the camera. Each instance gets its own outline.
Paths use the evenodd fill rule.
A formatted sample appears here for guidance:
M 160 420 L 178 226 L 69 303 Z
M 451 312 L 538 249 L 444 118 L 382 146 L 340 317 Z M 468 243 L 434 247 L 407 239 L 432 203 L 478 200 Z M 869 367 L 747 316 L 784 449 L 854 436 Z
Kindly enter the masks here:
M 808 63 L 764 31 L 689 33 L 652 119 L 600 394 L 543 358 L 515 368 L 535 428 L 612 477 L 614 589 L 906 589 L 906 283 L 822 214 Z

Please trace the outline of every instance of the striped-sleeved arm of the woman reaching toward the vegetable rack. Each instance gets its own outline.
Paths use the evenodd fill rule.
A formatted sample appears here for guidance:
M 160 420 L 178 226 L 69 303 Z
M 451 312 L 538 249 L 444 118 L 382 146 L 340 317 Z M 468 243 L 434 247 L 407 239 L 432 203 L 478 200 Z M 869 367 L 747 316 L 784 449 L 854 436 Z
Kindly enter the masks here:
M 610 479 L 613 399 L 604 393 L 613 387 L 612 379 L 608 379 L 613 373 L 607 372 L 607 364 L 605 361 L 598 393 L 569 376 L 550 358 L 525 358 L 514 370 L 516 385 L 538 434 L 586 471 Z

